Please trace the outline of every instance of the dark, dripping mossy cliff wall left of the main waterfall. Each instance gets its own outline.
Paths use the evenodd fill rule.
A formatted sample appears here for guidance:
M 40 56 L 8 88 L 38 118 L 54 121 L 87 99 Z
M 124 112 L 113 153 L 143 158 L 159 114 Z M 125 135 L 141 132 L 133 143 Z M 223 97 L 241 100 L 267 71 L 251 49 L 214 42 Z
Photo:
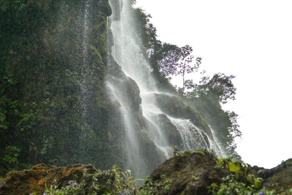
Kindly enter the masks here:
M 121 132 L 122 125 L 114 123 L 111 115 L 119 103 L 110 101 L 105 87 L 107 16 L 112 11 L 108 0 L 88 2 L 87 37 L 86 1 L 0 3 L 4 37 L 0 39 L 0 75 L 17 81 L 11 93 L 5 95 L 20 104 L 39 105 L 32 128 L 20 132 L 19 120 L 11 120 L 3 136 L 6 145 L 1 149 L 23 143 L 18 144 L 18 165 L 92 163 L 108 169 L 124 162 L 118 155 L 122 153 L 119 139 L 123 136 L 117 132 Z M 41 106 L 46 99 L 50 103 Z M 29 112 L 28 107 L 19 111 Z M 31 151 L 31 143 L 36 150 Z M 104 156 L 107 158 L 100 161 Z

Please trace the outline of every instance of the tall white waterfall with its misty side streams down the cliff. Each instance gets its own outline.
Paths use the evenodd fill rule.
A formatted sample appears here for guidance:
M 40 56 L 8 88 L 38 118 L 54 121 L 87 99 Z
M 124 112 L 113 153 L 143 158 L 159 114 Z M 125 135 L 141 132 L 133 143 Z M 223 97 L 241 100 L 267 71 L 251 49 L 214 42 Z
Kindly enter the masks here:
M 167 127 L 164 127 L 165 121 L 171 123 L 175 131 L 178 132 L 176 137 L 180 137 L 180 144 L 183 150 L 214 149 L 217 155 L 221 156 L 220 149 L 213 137 L 210 139 L 204 131 L 196 127 L 190 120 L 167 116 L 158 108 L 152 94 L 159 92 L 157 92 L 156 82 L 152 76 L 153 70 L 150 64 L 147 63 L 145 54 L 141 49 L 143 48 L 142 41 L 135 33 L 133 23 L 135 20 L 131 15 L 132 1 L 110 0 L 109 2 L 113 10 L 113 15 L 108 19 L 109 31 L 112 32 L 113 40 L 108 40 L 108 74 L 119 72 L 115 68 L 115 63 L 121 67 L 122 73 L 115 73 L 115 75 L 110 76 L 107 85 L 119 101 L 121 114 L 124 117 L 123 123 L 128 137 L 128 144 L 126 144 L 128 153 L 127 168 L 136 169 L 136 172 L 140 172 L 146 166 L 143 161 L 145 156 L 142 156 L 142 153 L 152 152 L 146 151 L 147 149 L 143 146 L 141 147 L 139 143 L 141 139 L 137 136 L 137 133 L 146 131 L 145 124 L 144 126 L 137 124 L 139 122 L 142 123 L 139 121 L 139 115 L 144 117 L 152 128 L 154 135 L 147 137 L 152 137 L 151 139 L 156 144 L 156 148 L 160 149 L 161 154 L 164 154 L 166 158 L 171 156 L 169 148 L 172 145 L 168 143 Z M 161 117 L 164 117 L 165 121 L 161 121 Z M 152 149 L 154 148 L 152 147 Z M 158 157 L 153 156 L 152 158 Z

